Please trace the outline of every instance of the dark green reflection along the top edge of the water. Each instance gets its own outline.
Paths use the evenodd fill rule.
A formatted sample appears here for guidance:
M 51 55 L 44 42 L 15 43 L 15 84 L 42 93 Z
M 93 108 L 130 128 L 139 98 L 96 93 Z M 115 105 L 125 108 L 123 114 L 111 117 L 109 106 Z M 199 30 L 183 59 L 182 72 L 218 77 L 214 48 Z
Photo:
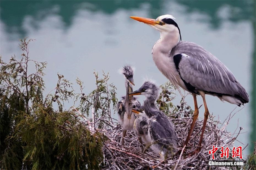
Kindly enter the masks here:
M 227 19 L 232 22 L 241 20 L 251 20 L 254 16 L 254 1 L 183 1 L 176 3 L 185 6 L 187 14 L 200 12 L 206 15 L 212 28 L 219 28 L 225 19 L 219 14 L 222 7 L 228 6 Z M 6 24 L 6 31 L 9 33 L 18 32 L 21 37 L 26 36 L 26 30 L 22 28 L 22 22 L 26 16 L 32 16 L 35 20 L 45 19 L 50 14 L 57 14 L 65 23 L 65 27 L 70 27 L 72 19 L 78 10 L 91 12 L 103 12 L 111 15 L 118 10 L 140 9 L 143 5 L 148 6 L 148 17 L 156 18 L 163 14 L 163 1 L 2 1 L 1 20 Z M 169 12 L 168 12 L 169 13 Z M 253 17 L 254 18 L 254 17 Z M 33 25 L 36 28 L 36 24 Z

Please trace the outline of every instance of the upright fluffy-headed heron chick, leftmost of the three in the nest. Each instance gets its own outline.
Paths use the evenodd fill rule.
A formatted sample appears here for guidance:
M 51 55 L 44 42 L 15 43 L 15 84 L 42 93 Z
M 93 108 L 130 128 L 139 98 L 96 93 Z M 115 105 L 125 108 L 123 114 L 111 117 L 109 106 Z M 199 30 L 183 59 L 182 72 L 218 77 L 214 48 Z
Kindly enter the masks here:
M 117 113 L 119 116 L 120 124 L 123 128 L 123 137 L 121 140 L 121 144 L 123 145 L 126 132 L 127 130 L 133 130 L 133 123 L 134 120 L 136 119 L 134 113 L 132 113 L 132 104 L 140 105 L 140 102 L 136 99 L 136 97 L 129 96 L 129 93 L 132 92 L 132 85 L 134 85 L 134 68 L 132 66 L 127 65 L 120 69 L 119 72 L 121 74 L 124 74 L 126 88 L 126 96 L 123 96 L 117 104 Z

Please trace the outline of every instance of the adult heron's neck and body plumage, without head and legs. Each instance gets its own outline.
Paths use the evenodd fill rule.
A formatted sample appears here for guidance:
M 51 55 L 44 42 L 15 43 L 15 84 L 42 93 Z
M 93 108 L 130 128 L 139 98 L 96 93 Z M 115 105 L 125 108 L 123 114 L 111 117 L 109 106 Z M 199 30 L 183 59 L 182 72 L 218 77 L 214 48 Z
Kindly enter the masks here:
M 195 94 L 203 91 L 238 106 L 249 102 L 246 90 L 231 71 L 203 47 L 179 41 L 178 31 L 161 37 L 152 48 L 152 56 L 157 68 L 178 89 Z

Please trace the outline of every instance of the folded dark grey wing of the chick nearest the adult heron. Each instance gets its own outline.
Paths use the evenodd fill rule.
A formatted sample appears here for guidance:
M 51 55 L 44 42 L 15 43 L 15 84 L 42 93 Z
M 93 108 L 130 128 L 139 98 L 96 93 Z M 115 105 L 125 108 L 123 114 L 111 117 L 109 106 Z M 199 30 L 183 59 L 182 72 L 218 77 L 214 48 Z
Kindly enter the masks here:
M 159 111 L 158 111 L 159 112 Z M 164 144 L 177 145 L 177 134 L 167 116 L 159 112 L 149 123 L 150 135 L 154 141 Z

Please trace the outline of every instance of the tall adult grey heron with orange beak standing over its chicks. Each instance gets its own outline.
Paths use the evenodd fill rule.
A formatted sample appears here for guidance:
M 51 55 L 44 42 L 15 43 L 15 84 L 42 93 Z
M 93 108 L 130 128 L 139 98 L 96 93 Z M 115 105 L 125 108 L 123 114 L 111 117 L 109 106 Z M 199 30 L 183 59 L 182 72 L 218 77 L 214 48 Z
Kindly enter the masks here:
M 200 150 L 209 115 L 205 94 L 217 96 L 220 100 L 240 106 L 249 102 L 247 92 L 218 58 L 196 43 L 181 41 L 180 28 L 172 15 L 162 15 L 156 19 L 131 18 L 146 23 L 160 32 L 160 39 L 152 48 L 152 56 L 157 68 L 179 92 L 181 87 L 193 95 L 194 118 L 184 145 L 188 144 L 198 117 L 196 96 L 201 95 L 203 98 L 205 112 L 198 144 Z

